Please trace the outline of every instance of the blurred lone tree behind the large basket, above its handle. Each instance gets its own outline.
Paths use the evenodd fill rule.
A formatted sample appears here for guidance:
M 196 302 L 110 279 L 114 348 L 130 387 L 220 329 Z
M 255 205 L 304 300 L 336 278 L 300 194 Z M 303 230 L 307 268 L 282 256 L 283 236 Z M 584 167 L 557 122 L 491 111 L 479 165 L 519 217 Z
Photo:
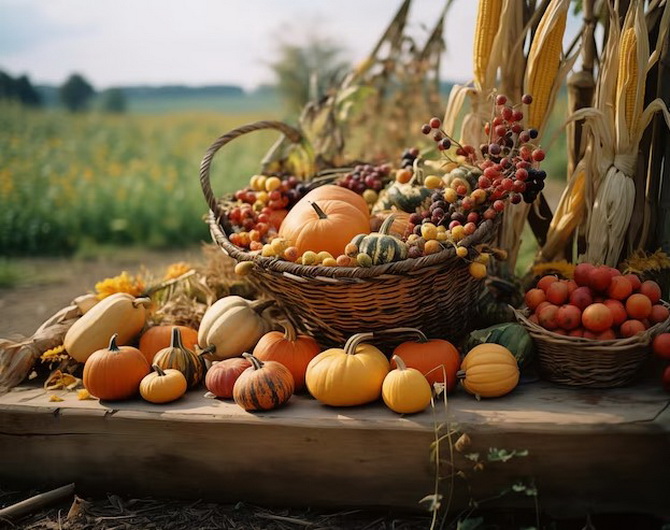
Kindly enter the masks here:
M 277 87 L 290 109 L 299 112 L 310 97 L 319 97 L 337 85 L 349 64 L 342 48 L 329 39 L 312 37 L 305 46 L 279 44 L 278 58 L 270 63 Z

